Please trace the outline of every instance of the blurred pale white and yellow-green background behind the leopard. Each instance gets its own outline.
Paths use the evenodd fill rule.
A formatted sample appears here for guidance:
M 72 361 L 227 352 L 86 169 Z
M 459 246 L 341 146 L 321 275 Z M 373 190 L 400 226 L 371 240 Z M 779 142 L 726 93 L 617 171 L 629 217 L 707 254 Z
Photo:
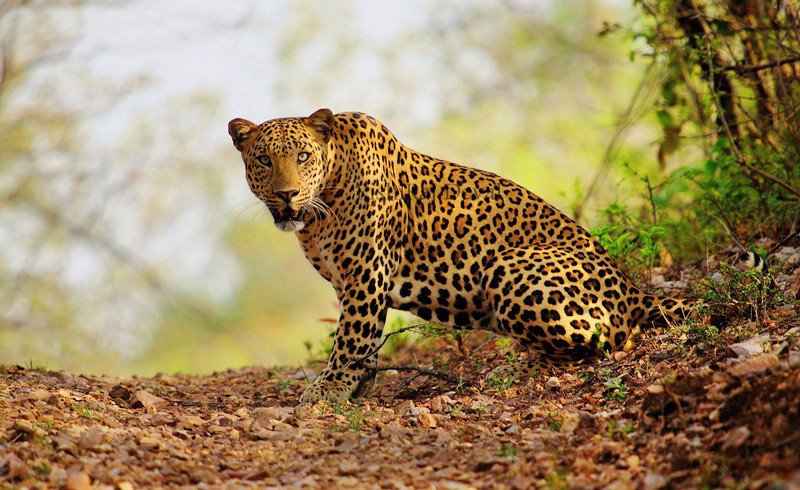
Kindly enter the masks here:
M 587 226 L 630 193 L 609 163 L 658 165 L 646 46 L 600 35 L 628 0 L 220 5 L 0 2 L 0 363 L 209 372 L 324 342 L 335 295 L 250 194 L 233 117 L 368 112 Z

